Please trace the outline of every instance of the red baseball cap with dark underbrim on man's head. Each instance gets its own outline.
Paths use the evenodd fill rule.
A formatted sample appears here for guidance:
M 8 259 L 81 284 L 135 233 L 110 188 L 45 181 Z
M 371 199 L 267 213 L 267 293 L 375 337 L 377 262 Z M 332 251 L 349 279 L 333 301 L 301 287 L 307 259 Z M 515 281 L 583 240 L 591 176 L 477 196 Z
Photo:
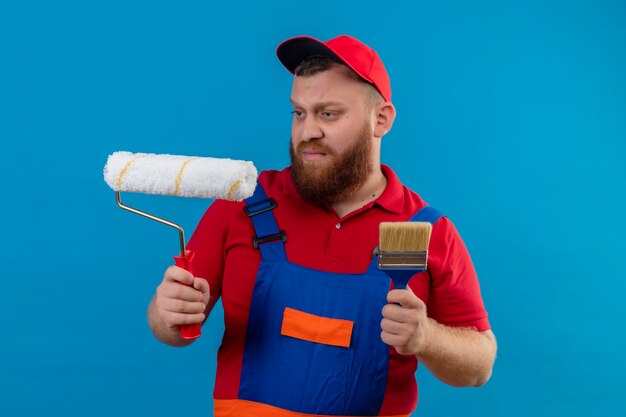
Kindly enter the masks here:
M 391 101 L 391 84 L 383 61 L 376 51 L 352 36 L 340 35 L 326 42 L 310 36 L 297 36 L 278 45 L 276 55 L 292 74 L 305 58 L 336 58 L 373 84 L 385 101 Z

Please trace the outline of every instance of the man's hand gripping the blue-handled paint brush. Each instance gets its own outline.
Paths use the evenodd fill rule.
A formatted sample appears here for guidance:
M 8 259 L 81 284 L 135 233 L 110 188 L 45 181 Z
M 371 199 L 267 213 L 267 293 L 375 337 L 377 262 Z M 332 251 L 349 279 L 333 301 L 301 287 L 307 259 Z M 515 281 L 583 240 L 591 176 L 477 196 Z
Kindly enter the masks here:
M 405 290 L 389 291 L 387 301 L 392 304 L 383 307 L 380 322 L 383 342 L 393 346 L 401 355 L 419 354 L 429 334 L 426 304 L 409 286 Z

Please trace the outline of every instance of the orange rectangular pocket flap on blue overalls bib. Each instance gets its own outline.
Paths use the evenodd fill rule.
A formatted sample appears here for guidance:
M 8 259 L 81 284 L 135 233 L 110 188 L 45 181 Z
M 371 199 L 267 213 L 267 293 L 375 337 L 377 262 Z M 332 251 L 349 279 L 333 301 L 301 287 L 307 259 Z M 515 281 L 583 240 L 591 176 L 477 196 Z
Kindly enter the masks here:
M 354 322 L 320 317 L 285 307 L 280 334 L 309 342 L 350 347 Z

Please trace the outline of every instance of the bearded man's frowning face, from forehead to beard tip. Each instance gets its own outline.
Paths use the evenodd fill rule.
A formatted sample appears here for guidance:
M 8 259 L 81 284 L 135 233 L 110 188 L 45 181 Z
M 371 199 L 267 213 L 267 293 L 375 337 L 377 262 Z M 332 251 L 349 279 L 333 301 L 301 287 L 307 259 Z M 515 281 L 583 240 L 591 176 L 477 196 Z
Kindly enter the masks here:
M 295 77 L 290 155 L 302 197 L 332 204 L 365 183 L 373 167 L 373 120 L 363 84 L 336 66 Z

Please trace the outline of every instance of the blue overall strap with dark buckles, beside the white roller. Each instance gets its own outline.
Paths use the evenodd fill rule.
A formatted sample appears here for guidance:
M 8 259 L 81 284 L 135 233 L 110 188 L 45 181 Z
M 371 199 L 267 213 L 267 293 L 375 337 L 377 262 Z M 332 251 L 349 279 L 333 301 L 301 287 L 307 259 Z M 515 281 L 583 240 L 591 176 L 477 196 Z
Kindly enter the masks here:
M 252 197 L 245 200 L 243 211 L 252 220 L 255 235 L 252 244 L 261 251 L 265 260 L 284 261 L 287 259 L 285 245 L 287 235 L 278 228 L 272 210 L 276 208 L 276 200 L 268 198 L 263 186 L 257 183 Z

